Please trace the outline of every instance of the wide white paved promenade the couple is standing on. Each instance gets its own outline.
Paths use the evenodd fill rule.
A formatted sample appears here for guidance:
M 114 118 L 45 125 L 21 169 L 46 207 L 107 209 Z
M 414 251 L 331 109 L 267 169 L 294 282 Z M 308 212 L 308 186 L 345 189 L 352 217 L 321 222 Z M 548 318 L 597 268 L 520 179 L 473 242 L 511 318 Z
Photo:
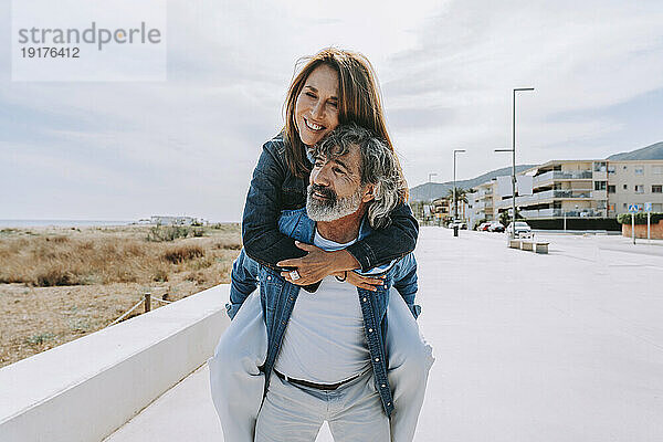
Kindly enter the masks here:
M 436 361 L 415 441 L 663 441 L 663 246 L 537 239 L 548 255 L 422 228 L 419 323 Z M 223 441 L 206 366 L 107 439 L 147 440 Z

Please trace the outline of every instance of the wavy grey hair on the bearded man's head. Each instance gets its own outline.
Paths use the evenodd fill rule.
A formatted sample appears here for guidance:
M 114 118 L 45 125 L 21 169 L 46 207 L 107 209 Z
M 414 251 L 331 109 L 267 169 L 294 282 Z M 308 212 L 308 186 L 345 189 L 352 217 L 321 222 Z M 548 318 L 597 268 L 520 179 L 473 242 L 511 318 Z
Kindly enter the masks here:
M 403 199 L 407 182 L 396 156 L 387 144 L 370 130 L 356 124 L 338 126 L 314 147 L 314 157 L 334 159 L 346 155 L 355 145 L 361 152 L 361 187 L 373 186 L 373 200 L 368 208 L 368 221 L 373 229 L 391 223 L 389 214 Z

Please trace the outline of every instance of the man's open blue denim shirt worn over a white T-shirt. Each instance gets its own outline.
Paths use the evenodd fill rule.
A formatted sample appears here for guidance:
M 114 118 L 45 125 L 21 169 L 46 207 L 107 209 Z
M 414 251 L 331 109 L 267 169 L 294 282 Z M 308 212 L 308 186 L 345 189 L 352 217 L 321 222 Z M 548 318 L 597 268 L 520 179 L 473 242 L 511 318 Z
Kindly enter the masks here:
M 288 210 L 282 213 L 278 230 L 284 234 L 308 244 L 313 243 L 315 222 L 306 215 L 306 209 Z M 361 222 L 359 240 L 372 230 L 366 221 Z M 386 274 L 385 285 L 376 292 L 357 288 L 364 327 L 370 352 L 376 388 L 387 415 L 393 410 L 393 398 L 387 378 L 386 338 L 387 338 L 387 306 L 389 290 L 393 286 L 406 301 L 406 304 L 417 318 L 421 308 L 414 305 L 417 295 L 417 261 L 412 253 L 400 260 L 380 267 Z M 378 271 L 379 272 L 379 271 Z M 243 252 L 233 264 L 231 283 L 231 304 L 227 305 L 228 313 L 234 317 L 246 296 L 255 288 L 255 275 L 259 275 L 263 317 L 267 328 L 267 357 L 263 366 L 265 373 L 265 393 L 270 383 L 270 375 L 278 356 L 283 335 L 293 313 L 301 287 L 285 281 L 281 274 L 267 266 L 261 266 Z M 371 274 L 377 275 L 375 272 Z

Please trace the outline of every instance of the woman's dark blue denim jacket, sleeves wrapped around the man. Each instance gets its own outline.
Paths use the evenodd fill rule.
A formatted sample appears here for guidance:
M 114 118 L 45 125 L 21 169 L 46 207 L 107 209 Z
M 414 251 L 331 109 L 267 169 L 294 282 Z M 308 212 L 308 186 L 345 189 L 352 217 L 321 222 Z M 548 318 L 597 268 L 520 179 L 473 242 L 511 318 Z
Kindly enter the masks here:
M 245 254 L 274 270 L 278 261 L 306 255 L 276 225 L 282 210 L 299 209 L 306 204 L 307 185 L 307 179 L 294 177 L 287 167 L 283 135 L 264 144 L 244 204 L 242 240 Z M 414 250 L 419 224 L 409 206 L 399 204 L 390 218 L 389 227 L 376 230 L 366 240 L 346 249 L 364 271 Z

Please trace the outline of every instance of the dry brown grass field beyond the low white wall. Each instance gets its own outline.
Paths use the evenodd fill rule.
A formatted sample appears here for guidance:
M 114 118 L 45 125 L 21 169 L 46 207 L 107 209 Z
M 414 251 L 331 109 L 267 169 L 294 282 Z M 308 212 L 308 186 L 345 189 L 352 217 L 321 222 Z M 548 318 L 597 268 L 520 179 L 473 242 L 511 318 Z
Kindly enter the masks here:
M 0 367 L 228 283 L 240 248 L 239 224 L 2 229 Z

